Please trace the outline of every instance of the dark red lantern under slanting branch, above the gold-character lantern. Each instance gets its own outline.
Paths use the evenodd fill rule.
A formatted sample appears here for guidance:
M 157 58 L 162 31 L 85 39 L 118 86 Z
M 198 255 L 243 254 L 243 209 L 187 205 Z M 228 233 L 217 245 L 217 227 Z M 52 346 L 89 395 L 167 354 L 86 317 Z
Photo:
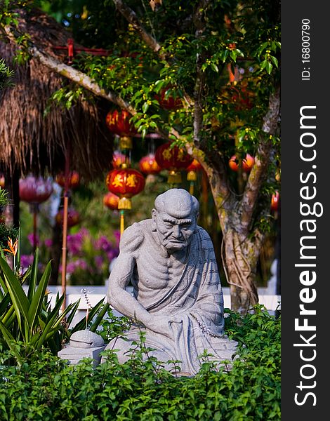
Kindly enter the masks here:
M 119 135 L 119 147 L 120 149 L 132 149 L 133 147 L 133 136 L 136 135 L 136 128 L 129 122 L 131 114 L 126 109 L 118 111 L 110 111 L 105 117 L 105 123 L 107 128 L 114 133 Z

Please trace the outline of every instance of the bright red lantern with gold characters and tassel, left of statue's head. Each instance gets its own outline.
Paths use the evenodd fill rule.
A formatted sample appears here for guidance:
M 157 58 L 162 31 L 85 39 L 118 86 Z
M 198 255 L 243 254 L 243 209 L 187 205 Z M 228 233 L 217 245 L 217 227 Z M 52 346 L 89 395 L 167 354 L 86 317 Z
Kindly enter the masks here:
M 124 232 L 124 211 L 132 208 L 131 197 L 142 192 L 145 187 L 145 178 L 133 168 L 121 164 L 121 168 L 108 173 L 105 180 L 107 188 L 119 196 L 118 209 L 120 210 L 120 234 Z

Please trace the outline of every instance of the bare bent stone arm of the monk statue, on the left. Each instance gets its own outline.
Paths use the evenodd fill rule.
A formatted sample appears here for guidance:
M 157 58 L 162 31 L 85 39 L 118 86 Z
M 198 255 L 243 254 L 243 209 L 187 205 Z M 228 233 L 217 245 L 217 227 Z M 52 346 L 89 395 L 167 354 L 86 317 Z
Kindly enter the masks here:
M 131 280 L 136 265 L 138 248 L 143 234 L 137 226 L 128 227 L 121 236 L 120 253 L 109 277 L 107 302 L 118 312 L 147 325 L 150 313 L 125 288 Z

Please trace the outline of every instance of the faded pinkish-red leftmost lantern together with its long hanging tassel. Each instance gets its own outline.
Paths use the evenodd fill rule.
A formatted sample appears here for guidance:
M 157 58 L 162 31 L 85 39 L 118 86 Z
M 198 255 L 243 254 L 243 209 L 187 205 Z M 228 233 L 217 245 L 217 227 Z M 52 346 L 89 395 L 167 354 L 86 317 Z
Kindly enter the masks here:
M 39 205 L 43 203 L 53 193 L 53 183 L 48 178 L 44 180 L 42 177 L 34 177 L 28 175 L 19 181 L 20 200 L 29 203 L 30 210 L 33 213 L 33 247 L 37 247 L 37 214 Z

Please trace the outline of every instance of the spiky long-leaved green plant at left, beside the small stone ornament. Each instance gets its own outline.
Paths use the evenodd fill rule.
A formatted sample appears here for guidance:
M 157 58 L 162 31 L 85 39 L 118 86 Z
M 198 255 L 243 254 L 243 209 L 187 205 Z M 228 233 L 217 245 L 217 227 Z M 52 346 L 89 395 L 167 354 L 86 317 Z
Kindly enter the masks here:
M 32 265 L 21 274 L 19 239 L 15 243 L 8 241 L 8 247 L 9 249 L 4 250 L 0 248 L 0 348 L 11 349 L 11 363 L 22 363 L 41 347 L 51 349 L 56 355 L 62 348 L 62 342 L 69 340 L 74 331 L 85 328 L 88 321 L 90 330 L 95 331 L 98 328 L 98 323 L 109 308 L 108 304 L 103 305 L 103 300 L 100 300 L 88 312 L 87 321 L 83 319 L 69 329 L 79 301 L 61 310 L 64 295 L 58 294 L 55 305 L 51 307 L 51 300 L 46 293 L 51 276 L 51 262 L 39 274 L 37 248 Z M 13 255 L 13 269 L 8 265 L 4 251 Z M 22 287 L 25 282 L 28 284 L 27 293 Z M 93 321 L 94 316 L 96 319 Z

